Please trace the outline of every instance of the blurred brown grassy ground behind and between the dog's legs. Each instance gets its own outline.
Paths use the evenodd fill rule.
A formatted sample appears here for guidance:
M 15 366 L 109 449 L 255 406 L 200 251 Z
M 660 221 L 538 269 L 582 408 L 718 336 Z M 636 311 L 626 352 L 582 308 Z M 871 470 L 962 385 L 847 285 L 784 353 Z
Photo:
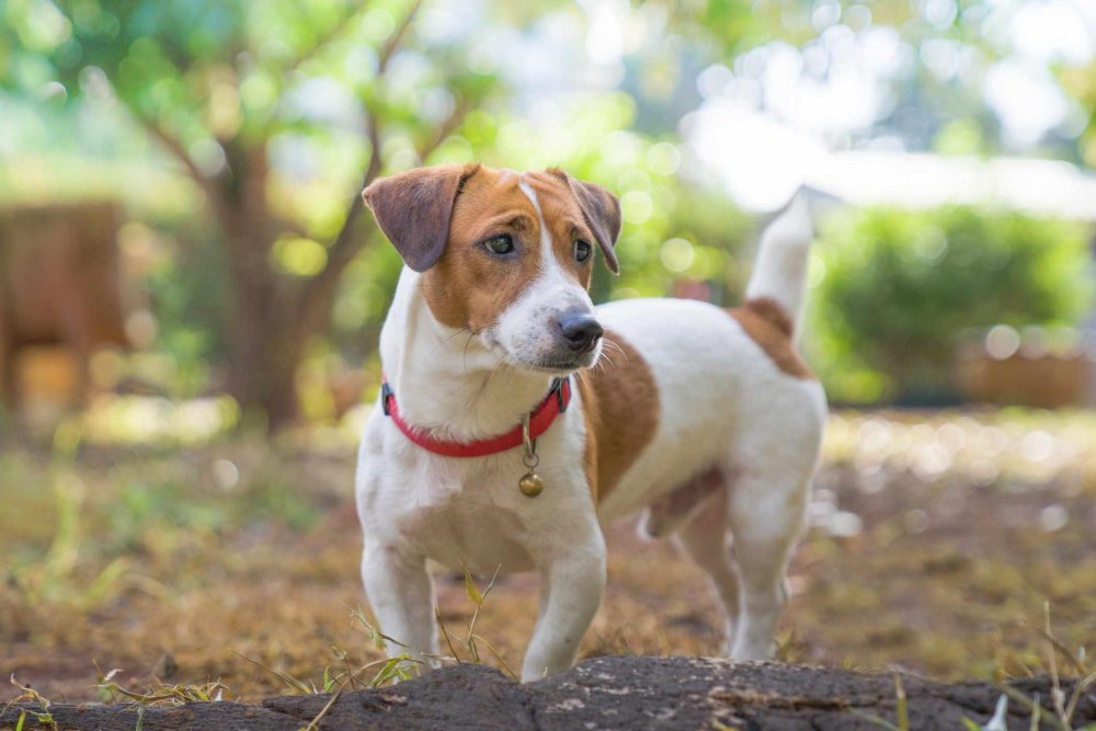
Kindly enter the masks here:
M 254 700 L 293 690 L 277 673 L 322 688 L 326 669 L 332 677 L 379 658 L 354 617 L 361 534 L 344 432 L 186 448 L 80 435 L 0 454 L 4 677 L 85 700 L 117 667 L 126 688 L 219 681 L 226 698 Z M 1092 415 L 840 413 L 811 523 L 791 570 L 783 659 L 1024 676 L 1048 669 L 1046 607 L 1066 651 L 1096 646 Z M 609 546 L 609 589 L 583 656 L 719 652 L 697 569 L 671 544 L 638 538 L 635 521 L 613 527 Z M 475 610 L 465 578 L 437 579 L 442 621 L 464 637 Z M 496 653 L 521 665 L 534 587 L 500 578 L 483 602 L 484 662 L 501 666 Z

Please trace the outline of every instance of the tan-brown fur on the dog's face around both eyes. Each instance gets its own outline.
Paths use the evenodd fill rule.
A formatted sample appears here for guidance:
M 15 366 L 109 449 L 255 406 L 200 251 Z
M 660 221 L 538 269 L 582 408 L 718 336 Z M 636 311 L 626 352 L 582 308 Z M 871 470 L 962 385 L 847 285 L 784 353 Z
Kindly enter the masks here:
M 505 170 L 479 168 L 465 180 L 453 206 L 448 242 L 421 286 L 434 317 L 452 328 L 478 332 L 493 325 L 505 309 L 536 278 L 541 262 L 540 219 L 521 189 L 523 178 Z M 593 241 L 570 190 L 547 173 L 525 173 L 548 227 L 557 260 L 576 282 L 589 287 L 594 258 L 574 261 L 578 238 Z M 498 259 L 481 245 L 509 235 L 517 253 Z

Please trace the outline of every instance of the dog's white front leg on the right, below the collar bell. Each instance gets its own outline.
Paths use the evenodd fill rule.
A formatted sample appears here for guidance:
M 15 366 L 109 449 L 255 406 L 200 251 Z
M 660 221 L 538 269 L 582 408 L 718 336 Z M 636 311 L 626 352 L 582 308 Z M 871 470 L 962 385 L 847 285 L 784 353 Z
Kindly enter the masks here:
M 605 539 L 601 530 L 581 548 L 540 568 L 540 618 L 525 652 L 522 681 L 536 681 L 574 663 L 579 642 L 593 621 L 605 593 Z

